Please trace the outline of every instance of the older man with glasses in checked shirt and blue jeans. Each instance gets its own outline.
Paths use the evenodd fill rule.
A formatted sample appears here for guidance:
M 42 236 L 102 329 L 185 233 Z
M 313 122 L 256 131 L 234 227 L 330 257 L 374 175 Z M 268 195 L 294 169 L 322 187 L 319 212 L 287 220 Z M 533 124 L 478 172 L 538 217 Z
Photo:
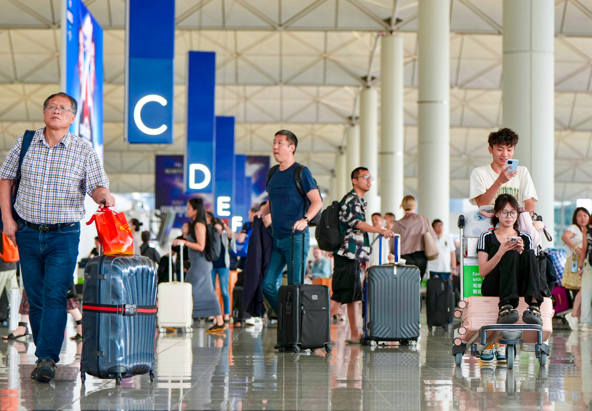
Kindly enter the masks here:
M 80 222 L 88 194 L 99 207 L 113 206 L 109 180 L 91 144 L 72 134 L 76 100 L 66 93 L 43 104 L 46 127 L 34 132 L 21 166 L 11 212 L 11 186 L 25 134 L 17 138 L 0 169 L 0 208 L 6 234 L 18 246 L 37 347 L 31 378 L 50 381 L 66 328 L 66 293 L 78 259 Z M 29 137 L 30 138 L 30 137 Z

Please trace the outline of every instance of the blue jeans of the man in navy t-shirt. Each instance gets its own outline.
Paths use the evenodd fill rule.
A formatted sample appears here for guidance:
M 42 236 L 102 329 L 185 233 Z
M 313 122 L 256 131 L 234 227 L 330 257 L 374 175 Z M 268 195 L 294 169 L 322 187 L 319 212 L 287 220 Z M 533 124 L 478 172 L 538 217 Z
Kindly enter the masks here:
M 271 307 L 278 313 L 278 289 L 281 284 L 282 273 L 286 263 L 292 261 L 292 239 L 291 237 L 276 238 L 274 239 L 274 246 L 271 250 L 271 258 L 269 258 L 269 267 L 263 279 L 263 295 L 267 299 L 267 302 Z M 302 255 L 303 238 L 300 232 L 294 234 L 294 273 L 291 273 L 291 265 L 288 265 L 288 283 L 300 284 L 300 276 L 302 272 L 302 261 L 300 261 Z M 308 257 L 308 248 L 310 248 L 310 235 L 304 234 L 304 260 Z M 292 281 L 290 281 L 292 277 Z M 279 313 L 278 313 L 279 315 Z

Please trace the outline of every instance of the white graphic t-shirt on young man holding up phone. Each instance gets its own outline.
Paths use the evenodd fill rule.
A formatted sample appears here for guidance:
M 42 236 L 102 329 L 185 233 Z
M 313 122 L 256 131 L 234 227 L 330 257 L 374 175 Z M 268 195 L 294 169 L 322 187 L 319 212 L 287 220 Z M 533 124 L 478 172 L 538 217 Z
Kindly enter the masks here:
M 504 193 L 513 195 L 521 206 L 524 206 L 524 201 L 529 198 L 538 201 L 538 198 L 536 198 L 535 185 L 532 183 L 532 178 L 530 177 L 528 169 L 523 166 L 518 166 L 517 171 L 518 174 L 516 174 L 513 179 L 497 190 L 497 194 L 493 198 L 491 205 L 494 205 L 498 196 Z M 489 187 L 493 186 L 493 183 L 496 182 L 497 177 L 499 176 L 500 175 L 497 174 L 496 171 L 493 171 L 491 164 L 475 168 L 471 173 L 471 180 L 469 181 L 469 202 L 471 202 L 472 205 L 477 205 L 477 200 L 475 200 L 475 198 L 482 195 L 489 189 Z

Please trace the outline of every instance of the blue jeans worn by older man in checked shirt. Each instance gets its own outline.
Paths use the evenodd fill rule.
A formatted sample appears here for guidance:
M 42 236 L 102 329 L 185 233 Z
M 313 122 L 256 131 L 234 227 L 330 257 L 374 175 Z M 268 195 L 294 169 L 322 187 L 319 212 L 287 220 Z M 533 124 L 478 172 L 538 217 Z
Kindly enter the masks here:
M 79 242 L 79 222 L 40 232 L 18 221 L 17 247 L 37 362 L 60 360 L 66 329 L 66 294 L 76 268 Z

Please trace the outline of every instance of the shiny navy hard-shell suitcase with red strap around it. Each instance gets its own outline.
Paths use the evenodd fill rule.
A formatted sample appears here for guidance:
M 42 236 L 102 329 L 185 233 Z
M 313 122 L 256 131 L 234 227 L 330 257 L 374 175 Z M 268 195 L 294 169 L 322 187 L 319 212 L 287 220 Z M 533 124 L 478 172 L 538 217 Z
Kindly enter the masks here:
M 154 374 L 156 265 L 141 255 L 99 255 L 84 270 L 82 360 L 98 378 Z

